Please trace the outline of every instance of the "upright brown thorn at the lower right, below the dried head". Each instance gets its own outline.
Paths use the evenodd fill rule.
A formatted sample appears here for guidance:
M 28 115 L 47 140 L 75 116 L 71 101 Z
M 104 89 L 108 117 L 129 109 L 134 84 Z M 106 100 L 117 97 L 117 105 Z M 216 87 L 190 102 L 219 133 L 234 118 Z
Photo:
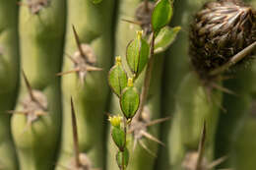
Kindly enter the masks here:
M 202 131 L 201 139 L 198 146 L 198 158 L 197 158 L 196 170 L 201 170 L 202 160 L 205 152 L 205 142 L 206 142 L 206 121 L 204 121 L 203 131 Z

